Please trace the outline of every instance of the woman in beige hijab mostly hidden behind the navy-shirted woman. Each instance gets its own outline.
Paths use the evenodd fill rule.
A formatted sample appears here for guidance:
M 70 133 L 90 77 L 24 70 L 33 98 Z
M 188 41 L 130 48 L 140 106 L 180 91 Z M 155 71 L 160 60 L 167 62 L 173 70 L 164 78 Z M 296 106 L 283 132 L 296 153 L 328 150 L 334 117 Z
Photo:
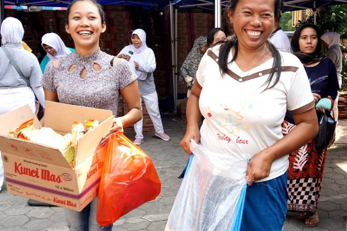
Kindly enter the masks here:
M 332 62 L 335 64 L 336 71 L 337 71 L 337 80 L 339 81 L 339 87 L 341 88 L 342 85 L 342 52 L 340 49 L 340 34 L 336 32 L 327 32 L 321 36 L 321 39 L 323 41 L 323 47 L 325 49 L 328 49 L 327 57 L 332 60 Z M 338 119 L 338 99 L 339 95 L 337 95 L 335 102 L 334 102 L 334 116 L 335 120 Z

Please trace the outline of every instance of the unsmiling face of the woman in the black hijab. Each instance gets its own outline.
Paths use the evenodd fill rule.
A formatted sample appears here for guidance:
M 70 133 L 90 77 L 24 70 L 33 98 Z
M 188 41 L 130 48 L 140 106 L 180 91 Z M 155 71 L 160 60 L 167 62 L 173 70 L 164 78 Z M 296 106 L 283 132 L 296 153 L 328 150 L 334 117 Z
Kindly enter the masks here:
M 317 32 L 312 27 L 306 27 L 301 30 L 299 37 L 300 51 L 305 54 L 312 54 L 317 47 Z

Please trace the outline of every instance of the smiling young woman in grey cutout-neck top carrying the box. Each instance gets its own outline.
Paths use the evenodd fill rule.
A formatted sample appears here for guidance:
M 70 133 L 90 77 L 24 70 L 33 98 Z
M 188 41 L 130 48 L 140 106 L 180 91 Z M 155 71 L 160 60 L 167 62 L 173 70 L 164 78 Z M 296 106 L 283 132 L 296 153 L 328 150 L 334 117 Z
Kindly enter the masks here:
M 113 119 L 111 131 L 123 130 L 142 118 L 136 75 L 129 63 L 100 50 L 100 34 L 106 29 L 104 12 L 94 0 L 75 0 L 67 9 L 66 31 L 76 52 L 53 60 L 46 66 L 42 85 L 46 100 L 112 110 L 117 116 L 121 95 L 129 112 Z M 96 222 L 95 198 L 81 212 L 66 210 L 70 230 L 110 231 L 112 224 Z

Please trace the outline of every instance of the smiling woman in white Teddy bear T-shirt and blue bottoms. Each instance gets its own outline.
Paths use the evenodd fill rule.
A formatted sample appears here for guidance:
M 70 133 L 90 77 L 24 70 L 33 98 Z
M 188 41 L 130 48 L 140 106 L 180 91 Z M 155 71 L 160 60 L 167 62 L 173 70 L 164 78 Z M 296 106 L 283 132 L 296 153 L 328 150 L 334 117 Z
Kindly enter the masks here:
M 241 230 L 279 231 L 287 213 L 288 153 L 318 132 L 314 99 L 302 63 L 268 42 L 279 1 L 230 0 L 229 6 L 236 36 L 203 56 L 187 102 L 181 146 L 191 154 L 194 139 L 230 158 L 251 155 Z M 297 127 L 283 137 L 287 109 Z M 219 139 L 223 135 L 230 142 Z

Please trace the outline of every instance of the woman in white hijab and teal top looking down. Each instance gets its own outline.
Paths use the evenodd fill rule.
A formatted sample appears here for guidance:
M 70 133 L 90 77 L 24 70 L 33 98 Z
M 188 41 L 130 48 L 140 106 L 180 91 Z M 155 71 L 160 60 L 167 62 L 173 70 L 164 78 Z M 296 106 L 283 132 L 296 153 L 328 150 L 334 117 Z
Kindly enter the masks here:
M 42 73 L 44 72 L 48 62 L 60 59 L 61 57 L 75 51 L 73 48 L 66 47 L 64 42 L 56 33 L 45 34 L 42 36 L 41 42 L 43 49 L 47 52 L 47 55 L 44 56 L 40 63 Z

